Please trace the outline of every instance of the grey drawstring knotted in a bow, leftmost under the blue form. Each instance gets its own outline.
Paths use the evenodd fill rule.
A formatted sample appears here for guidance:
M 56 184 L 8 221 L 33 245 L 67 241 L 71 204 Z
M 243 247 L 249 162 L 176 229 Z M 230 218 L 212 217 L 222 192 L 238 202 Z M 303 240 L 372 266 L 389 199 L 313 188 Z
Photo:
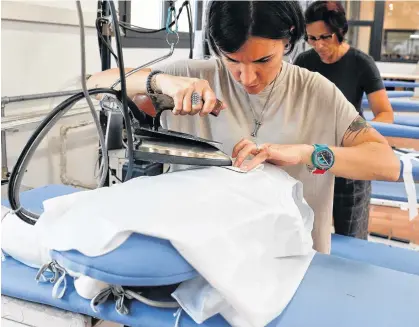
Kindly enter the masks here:
M 52 276 L 49 278 L 45 274 L 47 271 L 52 273 Z M 67 272 L 63 267 L 61 267 L 56 261 L 51 261 L 39 269 L 35 276 L 35 280 L 38 283 L 50 282 L 51 284 L 54 284 L 54 287 L 52 288 L 52 297 L 54 299 L 61 299 L 67 289 L 66 275 Z M 62 289 L 60 292 L 58 292 L 61 286 Z

